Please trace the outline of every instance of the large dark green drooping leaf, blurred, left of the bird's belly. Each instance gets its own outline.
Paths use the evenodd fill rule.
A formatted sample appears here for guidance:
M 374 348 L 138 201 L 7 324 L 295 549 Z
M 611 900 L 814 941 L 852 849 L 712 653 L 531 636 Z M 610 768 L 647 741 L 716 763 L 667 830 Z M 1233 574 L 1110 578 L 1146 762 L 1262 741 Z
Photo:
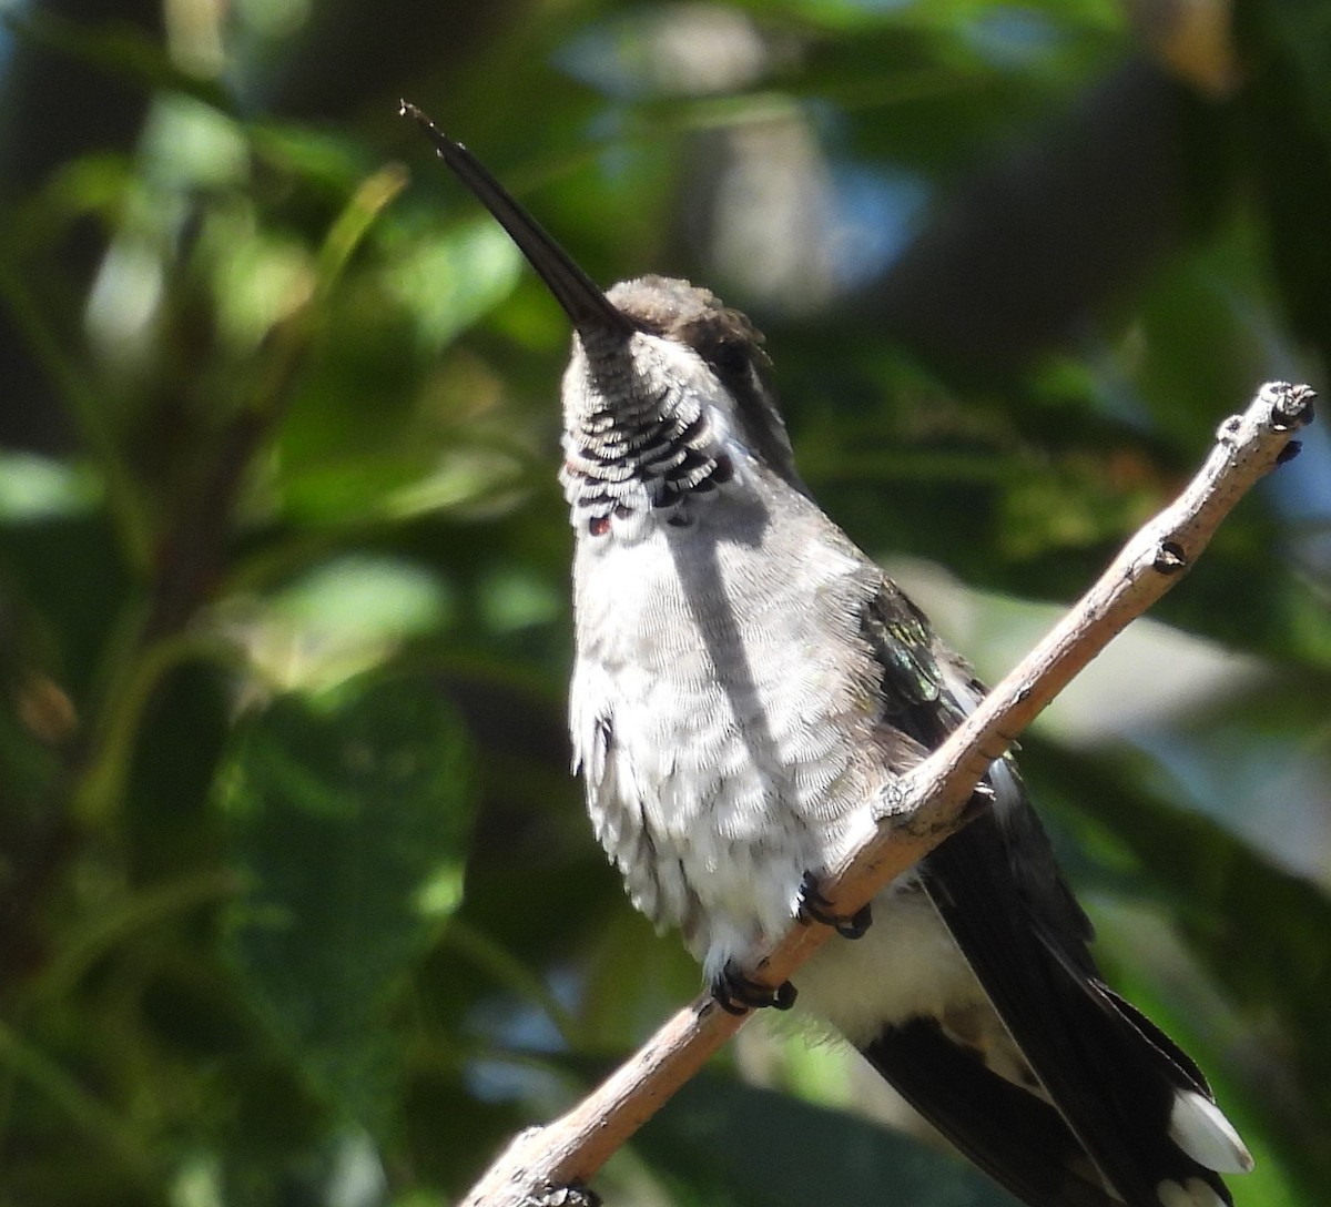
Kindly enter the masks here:
M 236 955 L 256 1002 L 339 1113 L 390 1115 L 385 1010 L 457 908 L 473 801 L 463 732 L 429 684 L 286 696 L 221 772 L 253 888 Z

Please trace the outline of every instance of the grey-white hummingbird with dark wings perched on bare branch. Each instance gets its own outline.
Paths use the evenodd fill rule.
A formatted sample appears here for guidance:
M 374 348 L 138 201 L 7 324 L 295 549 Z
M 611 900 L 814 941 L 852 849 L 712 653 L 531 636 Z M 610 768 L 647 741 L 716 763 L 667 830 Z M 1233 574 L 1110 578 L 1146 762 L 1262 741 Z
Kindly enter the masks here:
M 985 693 L 800 479 L 749 319 L 646 275 L 602 290 L 419 109 L 572 325 L 574 769 L 634 905 L 728 1010 L 831 1026 L 1030 1207 L 1219 1207 L 1252 1159 L 1198 1066 L 1103 981 L 1012 757 L 855 917 L 820 878 Z M 824 944 L 772 991 L 796 921 Z

